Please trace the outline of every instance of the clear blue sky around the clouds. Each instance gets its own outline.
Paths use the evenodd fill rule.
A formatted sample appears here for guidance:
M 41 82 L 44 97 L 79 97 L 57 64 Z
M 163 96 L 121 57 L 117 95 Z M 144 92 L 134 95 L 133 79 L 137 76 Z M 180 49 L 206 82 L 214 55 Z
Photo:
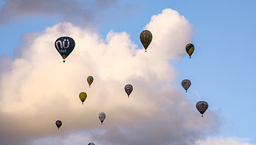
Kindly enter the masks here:
M 122 0 L 97 15 L 97 25 L 92 31 L 102 37 L 110 30 L 127 32 L 131 41 L 142 47 L 139 33 L 152 15 L 165 8 L 187 18 L 195 31 L 192 58 L 185 55 L 171 62 L 179 72 L 176 84 L 180 85 L 184 78 L 190 79 L 192 87 L 186 94 L 189 100 L 196 103 L 200 96 L 209 102 L 209 109 L 218 113 L 221 127 L 216 136 L 249 138 L 255 144 L 256 1 Z M 13 57 L 23 34 L 43 32 L 65 20 L 61 14 L 44 13 L 11 18 L 0 25 L 3 42 L 0 54 Z M 83 23 L 75 24 L 83 27 Z

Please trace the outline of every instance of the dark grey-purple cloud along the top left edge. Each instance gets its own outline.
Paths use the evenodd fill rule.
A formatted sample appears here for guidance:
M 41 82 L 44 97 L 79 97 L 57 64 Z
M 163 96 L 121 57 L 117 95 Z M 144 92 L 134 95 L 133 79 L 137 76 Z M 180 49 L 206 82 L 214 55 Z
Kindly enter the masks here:
M 1 23 L 34 15 L 60 18 L 84 26 L 96 23 L 96 19 L 110 7 L 118 7 L 116 0 L 7 0 L 0 9 Z

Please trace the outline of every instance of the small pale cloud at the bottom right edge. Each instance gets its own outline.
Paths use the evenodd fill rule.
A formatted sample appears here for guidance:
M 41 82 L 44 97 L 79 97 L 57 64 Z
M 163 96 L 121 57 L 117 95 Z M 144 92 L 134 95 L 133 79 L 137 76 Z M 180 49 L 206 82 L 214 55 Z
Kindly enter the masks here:
M 197 141 L 196 145 L 253 145 L 249 142 L 248 138 L 207 138 L 204 140 Z

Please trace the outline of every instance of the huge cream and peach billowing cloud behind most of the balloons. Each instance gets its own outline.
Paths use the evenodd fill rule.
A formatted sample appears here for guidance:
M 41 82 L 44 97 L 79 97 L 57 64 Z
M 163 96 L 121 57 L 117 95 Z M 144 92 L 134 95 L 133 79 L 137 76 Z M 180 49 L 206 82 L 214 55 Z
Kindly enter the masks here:
M 146 28 L 153 34 L 147 52 L 126 32 L 110 31 L 103 39 L 72 23 L 24 36 L 17 57 L 3 57 L 7 61 L 0 63 L 8 66 L 1 72 L 0 140 L 38 145 L 56 144 L 60 138 L 59 143 L 69 144 L 75 138 L 79 144 L 81 134 L 87 134 L 88 142 L 98 144 L 182 145 L 214 132 L 218 117 L 210 109 L 201 117 L 181 87 L 172 85 L 177 71 L 170 61 L 185 54 L 192 26 L 165 9 Z M 61 36 L 76 42 L 65 63 L 54 48 Z M 91 87 L 89 75 L 95 77 Z M 126 83 L 134 87 L 130 98 Z M 79 101 L 82 91 L 88 94 L 84 105 Z M 99 112 L 106 113 L 103 125 Z M 57 119 L 63 121 L 59 131 Z

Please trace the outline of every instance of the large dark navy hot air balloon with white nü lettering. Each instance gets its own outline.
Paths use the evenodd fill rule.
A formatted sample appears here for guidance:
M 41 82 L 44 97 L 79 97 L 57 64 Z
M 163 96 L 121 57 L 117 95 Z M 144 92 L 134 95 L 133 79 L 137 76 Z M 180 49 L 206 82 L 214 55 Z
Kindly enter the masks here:
M 59 37 L 55 41 L 55 48 L 63 57 L 63 62 L 65 62 L 65 58 L 69 56 L 70 52 L 74 49 L 74 39 L 72 37 Z

